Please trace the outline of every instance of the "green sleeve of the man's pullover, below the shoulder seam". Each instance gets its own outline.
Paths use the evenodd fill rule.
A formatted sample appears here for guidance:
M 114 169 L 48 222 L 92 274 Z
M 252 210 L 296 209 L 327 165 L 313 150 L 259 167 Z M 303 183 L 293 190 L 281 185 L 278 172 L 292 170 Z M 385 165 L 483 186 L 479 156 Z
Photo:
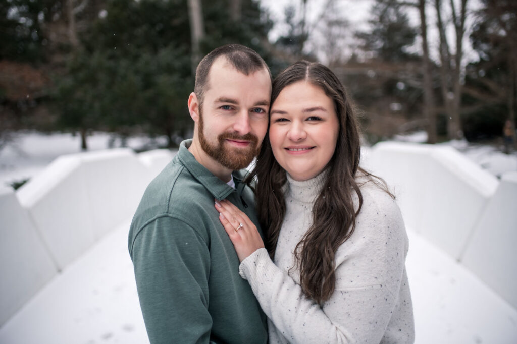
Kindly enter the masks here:
M 163 216 L 136 234 L 130 253 L 151 344 L 208 343 L 206 241 L 184 222 Z

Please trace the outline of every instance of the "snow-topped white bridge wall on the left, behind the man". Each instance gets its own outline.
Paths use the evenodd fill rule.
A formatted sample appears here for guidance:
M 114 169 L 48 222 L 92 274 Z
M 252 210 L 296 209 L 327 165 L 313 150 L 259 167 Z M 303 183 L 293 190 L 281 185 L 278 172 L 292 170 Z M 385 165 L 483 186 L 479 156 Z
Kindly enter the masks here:
M 0 191 L 0 325 L 132 216 L 173 153 L 115 149 L 59 157 L 18 192 Z

